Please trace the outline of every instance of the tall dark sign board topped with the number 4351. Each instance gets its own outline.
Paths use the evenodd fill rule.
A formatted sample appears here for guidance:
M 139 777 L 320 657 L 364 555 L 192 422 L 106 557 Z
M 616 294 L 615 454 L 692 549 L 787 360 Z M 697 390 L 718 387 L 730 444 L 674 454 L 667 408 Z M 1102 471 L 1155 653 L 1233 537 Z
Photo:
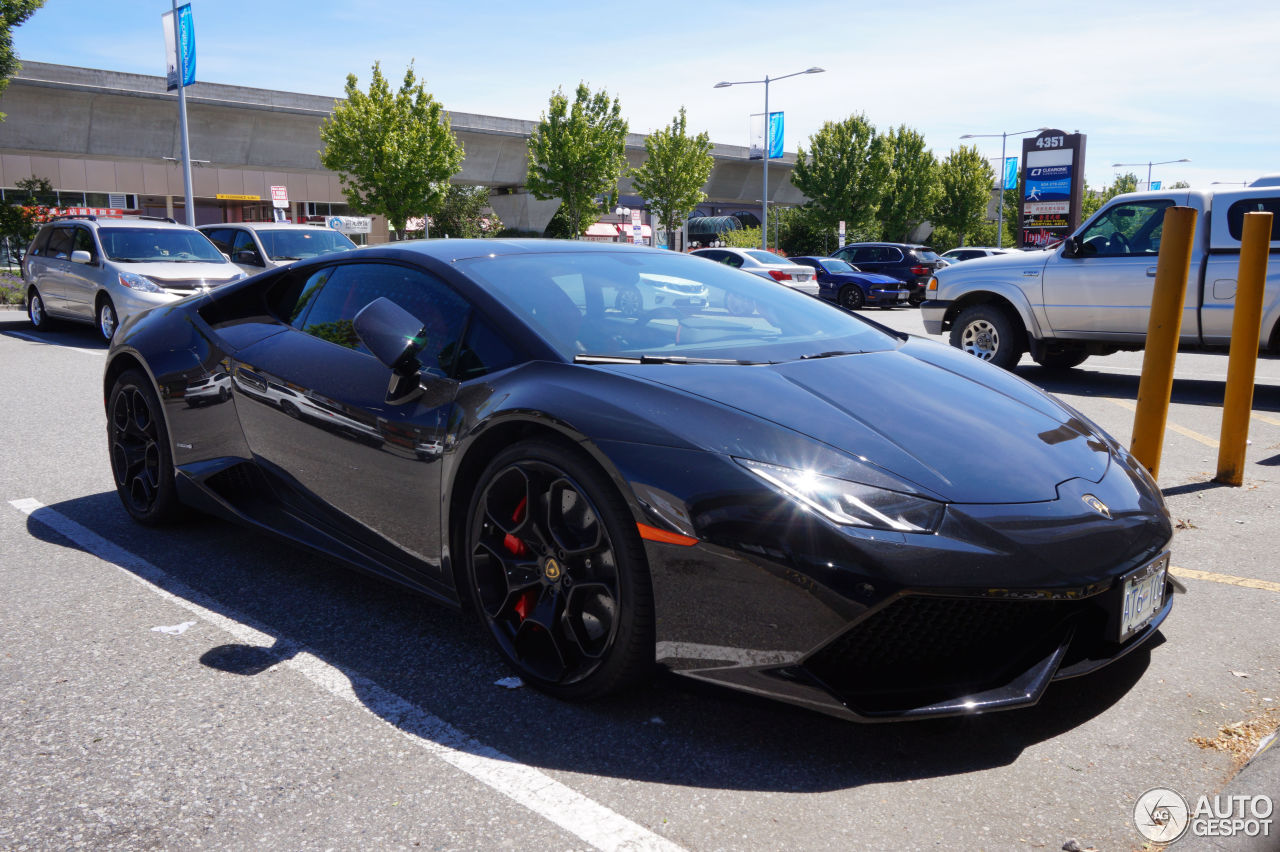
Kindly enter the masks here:
M 1084 134 L 1042 130 L 1023 139 L 1023 192 L 1018 200 L 1018 244 L 1043 248 L 1080 224 Z

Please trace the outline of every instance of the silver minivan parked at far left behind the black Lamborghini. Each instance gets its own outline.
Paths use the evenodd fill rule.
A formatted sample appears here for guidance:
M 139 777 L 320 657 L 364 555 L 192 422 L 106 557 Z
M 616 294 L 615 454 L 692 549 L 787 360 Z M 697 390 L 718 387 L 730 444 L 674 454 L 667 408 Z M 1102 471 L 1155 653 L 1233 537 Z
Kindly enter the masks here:
M 56 219 L 22 267 L 33 326 L 88 322 L 104 340 L 140 311 L 244 278 L 198 230 L 154 216 Z

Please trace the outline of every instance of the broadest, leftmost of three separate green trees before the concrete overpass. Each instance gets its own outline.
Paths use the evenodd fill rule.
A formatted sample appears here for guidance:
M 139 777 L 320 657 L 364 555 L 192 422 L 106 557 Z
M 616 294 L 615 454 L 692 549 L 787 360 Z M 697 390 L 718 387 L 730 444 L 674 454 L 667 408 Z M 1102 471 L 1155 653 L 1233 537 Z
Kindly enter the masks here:
M 394 93 L 379 63 L 367 95 L 347 74 L 347 100 L 320 124 L 320 162 L 338 173 L 347 202 L 387 216 L 398 238 L 410 219 L 436 210 L 462 164 L 449 116 L 413 77 L 412 64 Z

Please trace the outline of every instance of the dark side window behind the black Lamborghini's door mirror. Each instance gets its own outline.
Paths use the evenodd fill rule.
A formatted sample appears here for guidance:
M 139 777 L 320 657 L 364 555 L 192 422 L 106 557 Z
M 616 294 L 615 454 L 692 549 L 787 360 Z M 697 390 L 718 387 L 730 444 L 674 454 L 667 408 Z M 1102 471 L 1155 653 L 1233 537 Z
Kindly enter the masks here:
M 316 288 L 319 293 L 311 297 Z M 407 266 L 347 264 L 321 270 L 307 281 L 298 299 L 311 302 L 310 310 L 297 313 L 293 325 L 323 340 L 367 353 L 352 321 L 361 308 L 380 297 L 422 321 L 426 336 L 419 356 L 422 366 L 448 371 L 457 357 L 468 306 L 443 283 Z

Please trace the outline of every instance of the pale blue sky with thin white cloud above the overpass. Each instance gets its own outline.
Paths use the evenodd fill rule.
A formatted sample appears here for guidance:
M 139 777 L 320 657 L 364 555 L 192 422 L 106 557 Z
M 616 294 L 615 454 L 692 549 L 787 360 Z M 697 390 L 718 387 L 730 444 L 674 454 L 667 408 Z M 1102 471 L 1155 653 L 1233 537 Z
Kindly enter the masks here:
M 14 33 L 23 59 L 161 74 L 165 0 L 47 0 Z M 691 130 L 746 145 L 762 86 L 786 113 L 786 148 L 864 113 L 906 124 L 936 155 L 964 133 L 1051 127 L 1087 134 L 1085 175 L 1189 157 L 1156 180 L 1280 173 L 1280 3 L 699 4 L 453 0 L 192 0 L 197 79 L 340 96 L 348 73 L 398 82 L 410 61 L 447 109 L 536 119 L 580 81 L 622 102 L 634 132 L 685 106 Z M 1000 138 L 977 139 L 998 160 Z M 1020 150 L 1010 139 L 1010 152 Z

